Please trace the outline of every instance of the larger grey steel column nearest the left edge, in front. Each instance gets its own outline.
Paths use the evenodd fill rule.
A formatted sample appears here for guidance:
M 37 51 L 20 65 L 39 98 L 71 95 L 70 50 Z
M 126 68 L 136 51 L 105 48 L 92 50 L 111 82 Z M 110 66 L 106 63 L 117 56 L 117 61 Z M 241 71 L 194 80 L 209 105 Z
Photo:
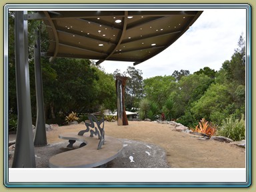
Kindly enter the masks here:
M 35 167 L 29 87 L 27 21 L 24 21 L 24 13 L 27 13 L 27 11 L 15 11 L 15 67 L 18 125 L 13 168 Z

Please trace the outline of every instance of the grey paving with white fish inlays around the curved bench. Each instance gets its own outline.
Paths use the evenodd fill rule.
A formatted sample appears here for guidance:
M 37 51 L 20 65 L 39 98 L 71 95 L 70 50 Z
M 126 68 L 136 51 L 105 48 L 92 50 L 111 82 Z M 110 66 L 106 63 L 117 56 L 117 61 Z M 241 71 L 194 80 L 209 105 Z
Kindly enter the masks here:
M 158 145 L 128 139 L 120 140 L 123 141 L 123 151 L 117 158 L 107 163 L 106 168 L 169 168 L 165 150 Z M 74 149 L 79 147 L 79 143 L 76 143 L 77 145 L 73 146 Z M 68 141 L 64 141 L 44 147 L 35 147 L 36 167 L 48 168 L 50 157 L 71 150 L 66 148 L 68 144 Z M 12 158 L 9 159 L 9 167 L 11 165 Z

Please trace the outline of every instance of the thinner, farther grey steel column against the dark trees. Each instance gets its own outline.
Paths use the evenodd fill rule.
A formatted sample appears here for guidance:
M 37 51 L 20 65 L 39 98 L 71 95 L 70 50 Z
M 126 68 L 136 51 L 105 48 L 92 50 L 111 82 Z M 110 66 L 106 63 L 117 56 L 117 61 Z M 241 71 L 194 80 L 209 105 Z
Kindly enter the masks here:
M 36 41 L 34 45 L 35 57 L 35 93 L 37 96 L 37 123 L 35 125 L 34 145 L 47 145 L 46 131 L 45 131 L 45 110 L 43 107 L 43 81 L 41 73 L 41 43 L 39 31 L 35 31 Z

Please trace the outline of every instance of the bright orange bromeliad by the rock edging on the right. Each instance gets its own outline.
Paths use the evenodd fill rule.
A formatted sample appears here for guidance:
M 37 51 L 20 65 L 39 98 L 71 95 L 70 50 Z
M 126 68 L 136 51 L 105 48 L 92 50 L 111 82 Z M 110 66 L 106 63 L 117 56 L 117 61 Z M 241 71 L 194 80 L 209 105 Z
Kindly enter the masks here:
M 192 129 L 193 132 L 197 133 L 203 133 L 205 135 L 208 135 L 209 137 L 213 136 L 216 133 L 217 126 L 212 125 L 208 121 L 205 120 L 205 118 L 201 119 L 199 124 L 195 127 L 195 129 Z

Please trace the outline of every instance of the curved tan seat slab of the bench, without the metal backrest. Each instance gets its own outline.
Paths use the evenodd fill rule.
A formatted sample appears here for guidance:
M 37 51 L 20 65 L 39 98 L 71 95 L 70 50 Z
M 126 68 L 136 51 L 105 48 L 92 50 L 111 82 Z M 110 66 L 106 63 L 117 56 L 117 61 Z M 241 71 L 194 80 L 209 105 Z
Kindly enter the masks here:
M 52 168 L 98 167 L 115 159 L 123 149 L 122 141 L 109 136 L 105 136 L 105 145 L 102 145 L 101 149 L 97 149 L 99 139 L 95 137 L 64 133 L 59 135 L 59 138 L 81 141 L 86 145 L 51 157 L 49 167 Z

